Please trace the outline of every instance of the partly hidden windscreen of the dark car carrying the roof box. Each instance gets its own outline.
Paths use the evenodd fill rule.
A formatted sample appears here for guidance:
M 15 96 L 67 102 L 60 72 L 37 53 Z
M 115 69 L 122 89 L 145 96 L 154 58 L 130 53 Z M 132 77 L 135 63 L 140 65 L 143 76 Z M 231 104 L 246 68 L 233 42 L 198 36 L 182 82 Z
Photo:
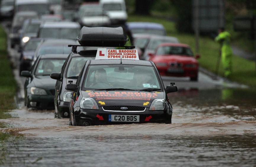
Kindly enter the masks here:
M 77 77 L 81 72 L 87 60 L 95 59 L 95 57 L 72 57 L 67 67 L 67 78 Z

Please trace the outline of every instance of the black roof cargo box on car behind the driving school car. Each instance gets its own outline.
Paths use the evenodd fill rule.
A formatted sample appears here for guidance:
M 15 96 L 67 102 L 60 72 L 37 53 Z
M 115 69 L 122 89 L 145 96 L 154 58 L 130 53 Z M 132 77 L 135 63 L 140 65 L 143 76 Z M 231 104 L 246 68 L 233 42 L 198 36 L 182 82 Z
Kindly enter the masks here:
M 128 41 L 122 27 L 85 27 L 76 38 L 82 46 L 122 47 Z

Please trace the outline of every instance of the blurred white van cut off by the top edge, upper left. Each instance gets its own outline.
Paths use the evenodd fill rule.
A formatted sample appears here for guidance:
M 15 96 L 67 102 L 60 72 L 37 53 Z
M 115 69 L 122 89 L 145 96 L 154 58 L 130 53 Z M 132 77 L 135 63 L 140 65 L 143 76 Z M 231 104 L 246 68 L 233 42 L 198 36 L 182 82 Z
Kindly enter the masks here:
M 50 13 L 48 0 L 16 0 L 15 13 L 23 11 L 35 11 L 39 16 Z

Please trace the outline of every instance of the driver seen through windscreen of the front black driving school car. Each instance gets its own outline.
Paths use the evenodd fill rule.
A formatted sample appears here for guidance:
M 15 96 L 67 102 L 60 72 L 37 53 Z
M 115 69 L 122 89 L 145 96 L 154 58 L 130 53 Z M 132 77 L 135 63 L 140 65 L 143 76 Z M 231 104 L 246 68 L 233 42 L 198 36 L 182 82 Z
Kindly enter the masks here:
M 102 84 L 108 84 L 109 86 L 113 86 L 111 85 L 111 83 L 109 83 L 107 81 L 107 72 L 106 70 L 104 70 L 103 68 L 97 69 L 94 73 L 94 83 L 92 83 L 90 85 L 91 86 L 95 86 L 95 85 L 102 85 Z

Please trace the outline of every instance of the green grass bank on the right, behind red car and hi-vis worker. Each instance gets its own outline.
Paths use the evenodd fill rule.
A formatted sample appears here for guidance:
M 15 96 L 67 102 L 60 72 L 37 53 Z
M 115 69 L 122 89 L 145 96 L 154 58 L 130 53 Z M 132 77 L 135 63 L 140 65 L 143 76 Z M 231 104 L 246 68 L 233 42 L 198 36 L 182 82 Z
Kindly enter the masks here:
M 195 53 L 195 36 L 194 34 L 177 33 L 175 23 L 167 21 L 162 18 L 150 17 L 150 16 L 138 16 L 129 15 L 128 21 L 145 21 L 161 23 L 165 26 L 168 36 L 175 36 L 181 43 L 191 46 Z M 240 41 L 241 42 L 241 41 Z M 199 64 L 201 67 L 215 73 L 216 65 L 219 55 L 219 44 L 212 38 L 206 36 L 200 36 L 199 38 L 199 53 L 201 55 Z M 256 89 L 256 70 L 255 61 L 245 60 L 237 55 L 233 56 L 233 73 L 228 77 L 229 80 L 235 81 L 241 84 L 251 86 Z M 224 76 L 224 69 L 220 63 L 218 74 Z

